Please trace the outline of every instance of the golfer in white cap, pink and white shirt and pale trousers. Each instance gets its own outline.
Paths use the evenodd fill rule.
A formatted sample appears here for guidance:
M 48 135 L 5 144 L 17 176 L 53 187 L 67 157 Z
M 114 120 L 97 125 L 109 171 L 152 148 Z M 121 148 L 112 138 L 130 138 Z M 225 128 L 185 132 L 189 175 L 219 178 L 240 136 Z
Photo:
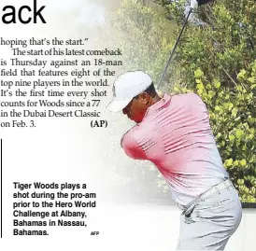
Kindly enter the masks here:
M 202 99 L 195 93 L 161 97 L 142 71 L 122 74 L 113 92 L 107 109 L 136 123 L 122 136 L 124 152 L 154 163 L 183 211 L 178 250 L 223 250 L 242 209 Z

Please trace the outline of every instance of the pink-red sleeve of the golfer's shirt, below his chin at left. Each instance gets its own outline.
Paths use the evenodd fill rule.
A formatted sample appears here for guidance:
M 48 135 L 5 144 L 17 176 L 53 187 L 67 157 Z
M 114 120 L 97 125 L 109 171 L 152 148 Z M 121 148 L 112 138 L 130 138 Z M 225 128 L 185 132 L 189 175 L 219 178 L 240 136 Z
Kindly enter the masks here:
M 121 147 L 125 154 L 134 160 L 147 160 L 142 147 L 135 140 L 133 130 L 126 132 L 121 138 Z

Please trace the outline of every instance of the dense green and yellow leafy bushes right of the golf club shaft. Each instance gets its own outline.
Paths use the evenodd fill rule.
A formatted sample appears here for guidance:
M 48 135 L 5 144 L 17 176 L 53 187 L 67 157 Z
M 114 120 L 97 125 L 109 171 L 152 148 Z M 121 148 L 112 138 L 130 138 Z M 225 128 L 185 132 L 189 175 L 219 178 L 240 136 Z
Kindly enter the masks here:
M 256 202 L 255 1 L 216 1 L 197 14 L 206 22 L 183 36 L 176 65 L 185 84 L 175 91 L 196 91 L 206 102 L 224 166 L 242 201 Z

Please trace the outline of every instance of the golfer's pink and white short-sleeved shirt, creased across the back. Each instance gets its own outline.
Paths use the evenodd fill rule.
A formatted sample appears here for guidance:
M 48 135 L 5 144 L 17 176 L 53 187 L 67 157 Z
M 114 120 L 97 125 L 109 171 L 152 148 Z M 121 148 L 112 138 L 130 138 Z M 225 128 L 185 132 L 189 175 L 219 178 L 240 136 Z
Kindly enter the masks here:
M 164 94 L 149 107 L 143 120 L 123 135 L 121 146 L 129 157 L 153 162 L 181 206 L 229 176 L 206 105 L 195 93 Z

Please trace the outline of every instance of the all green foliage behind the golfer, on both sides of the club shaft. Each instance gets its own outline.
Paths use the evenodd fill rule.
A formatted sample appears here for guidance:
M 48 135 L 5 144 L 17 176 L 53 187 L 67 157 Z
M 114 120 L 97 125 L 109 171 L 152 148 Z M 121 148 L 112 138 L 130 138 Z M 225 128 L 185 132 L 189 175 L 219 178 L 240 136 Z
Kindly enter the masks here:
M 163 70 L 187 4 L 157 2 L 165 13 L 125 0 L 112 19 L 114 37 L 124 51 L 123 70 L 143 69 L 154 79 Z M 254 0 L 220 0 L 200 7 L 182 36 L 163 87 L 202 97 L 224 166 L 242 202 L 256 202 L 255 47 Z M 165 189 L 161 175 L 157 182 Z

